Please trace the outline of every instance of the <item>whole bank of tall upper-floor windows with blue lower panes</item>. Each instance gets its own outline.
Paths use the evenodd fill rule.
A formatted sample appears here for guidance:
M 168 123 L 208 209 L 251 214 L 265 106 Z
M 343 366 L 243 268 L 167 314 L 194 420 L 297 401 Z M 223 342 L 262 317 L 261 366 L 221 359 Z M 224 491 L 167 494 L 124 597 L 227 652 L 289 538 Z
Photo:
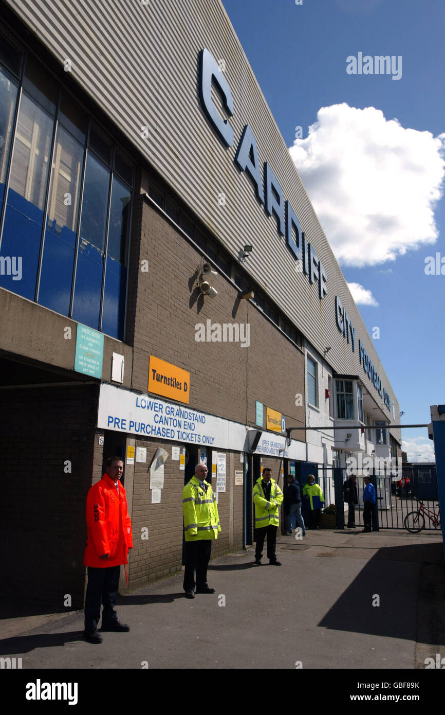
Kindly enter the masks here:
M 122 340 L 134 167 L 31 54 L 10 156 L 19 82 L 5 59 L 21 62 L 0 38 L 1 253 L 26 260 L 0 285 Z

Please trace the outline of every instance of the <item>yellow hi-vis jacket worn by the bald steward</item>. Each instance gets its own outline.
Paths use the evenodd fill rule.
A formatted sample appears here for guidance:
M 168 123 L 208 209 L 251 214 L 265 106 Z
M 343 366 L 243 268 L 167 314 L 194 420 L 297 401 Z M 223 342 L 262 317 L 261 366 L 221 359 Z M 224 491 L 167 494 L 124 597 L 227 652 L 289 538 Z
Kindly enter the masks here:
M 199 479 L 192 477 L 182 490 L 182 512 L 184 513 L 184 533 L 186 541 L 204 538 L 218 538 L 218 507 L 211 485 L 204 482 L 207 491 L 201 487 Z

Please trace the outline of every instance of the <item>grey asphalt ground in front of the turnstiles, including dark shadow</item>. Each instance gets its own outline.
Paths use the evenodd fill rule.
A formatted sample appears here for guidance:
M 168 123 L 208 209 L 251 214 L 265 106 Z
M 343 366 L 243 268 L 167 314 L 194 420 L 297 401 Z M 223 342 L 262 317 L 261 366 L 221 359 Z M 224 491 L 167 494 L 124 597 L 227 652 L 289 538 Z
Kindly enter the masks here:
M 308 531 L 279 537 L 277 556 L 281 567 L 254 566 L 252 550 L 216 558 L 215 593 L 193 600 L 181 573 L 121 595 L 131 631 L 99 645 L 82 639 L 83 611 L 4 619 L 0 656 L 23 669 L 367 671 L 445 657 L 440 533 Z

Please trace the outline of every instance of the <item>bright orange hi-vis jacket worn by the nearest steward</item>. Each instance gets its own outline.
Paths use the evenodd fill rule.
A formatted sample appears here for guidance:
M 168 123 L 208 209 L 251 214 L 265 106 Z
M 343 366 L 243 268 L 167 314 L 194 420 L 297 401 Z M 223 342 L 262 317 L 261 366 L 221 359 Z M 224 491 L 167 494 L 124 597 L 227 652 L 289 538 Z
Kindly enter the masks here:
M 126 506 L 125 489 L 119 482 L 119 494 L 108 474 L 102 475 L 86 497 L 85 566 L 109 568 L 128 563 L 133 548 L 131 521 Z M 101 558 L 105 553 L 108 558 Z

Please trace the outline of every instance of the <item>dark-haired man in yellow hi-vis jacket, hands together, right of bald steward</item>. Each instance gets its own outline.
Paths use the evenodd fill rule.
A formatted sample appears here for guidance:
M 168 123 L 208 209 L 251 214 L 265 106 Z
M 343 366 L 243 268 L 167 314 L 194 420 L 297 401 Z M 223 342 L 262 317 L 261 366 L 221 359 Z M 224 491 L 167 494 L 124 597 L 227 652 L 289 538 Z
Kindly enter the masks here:
M 276 529 L 279 526 L 278 508 L 283 501 L 283 492 L 274 479 L 272 472 L 264 468 L 263 476 L 256 480 L 253 490 L 255 503 L 256 548 L 255 563 L 261 566 L 264 538 L 267 536 L 267 558 L 273 566 L 281 566 L 276 559 Z

